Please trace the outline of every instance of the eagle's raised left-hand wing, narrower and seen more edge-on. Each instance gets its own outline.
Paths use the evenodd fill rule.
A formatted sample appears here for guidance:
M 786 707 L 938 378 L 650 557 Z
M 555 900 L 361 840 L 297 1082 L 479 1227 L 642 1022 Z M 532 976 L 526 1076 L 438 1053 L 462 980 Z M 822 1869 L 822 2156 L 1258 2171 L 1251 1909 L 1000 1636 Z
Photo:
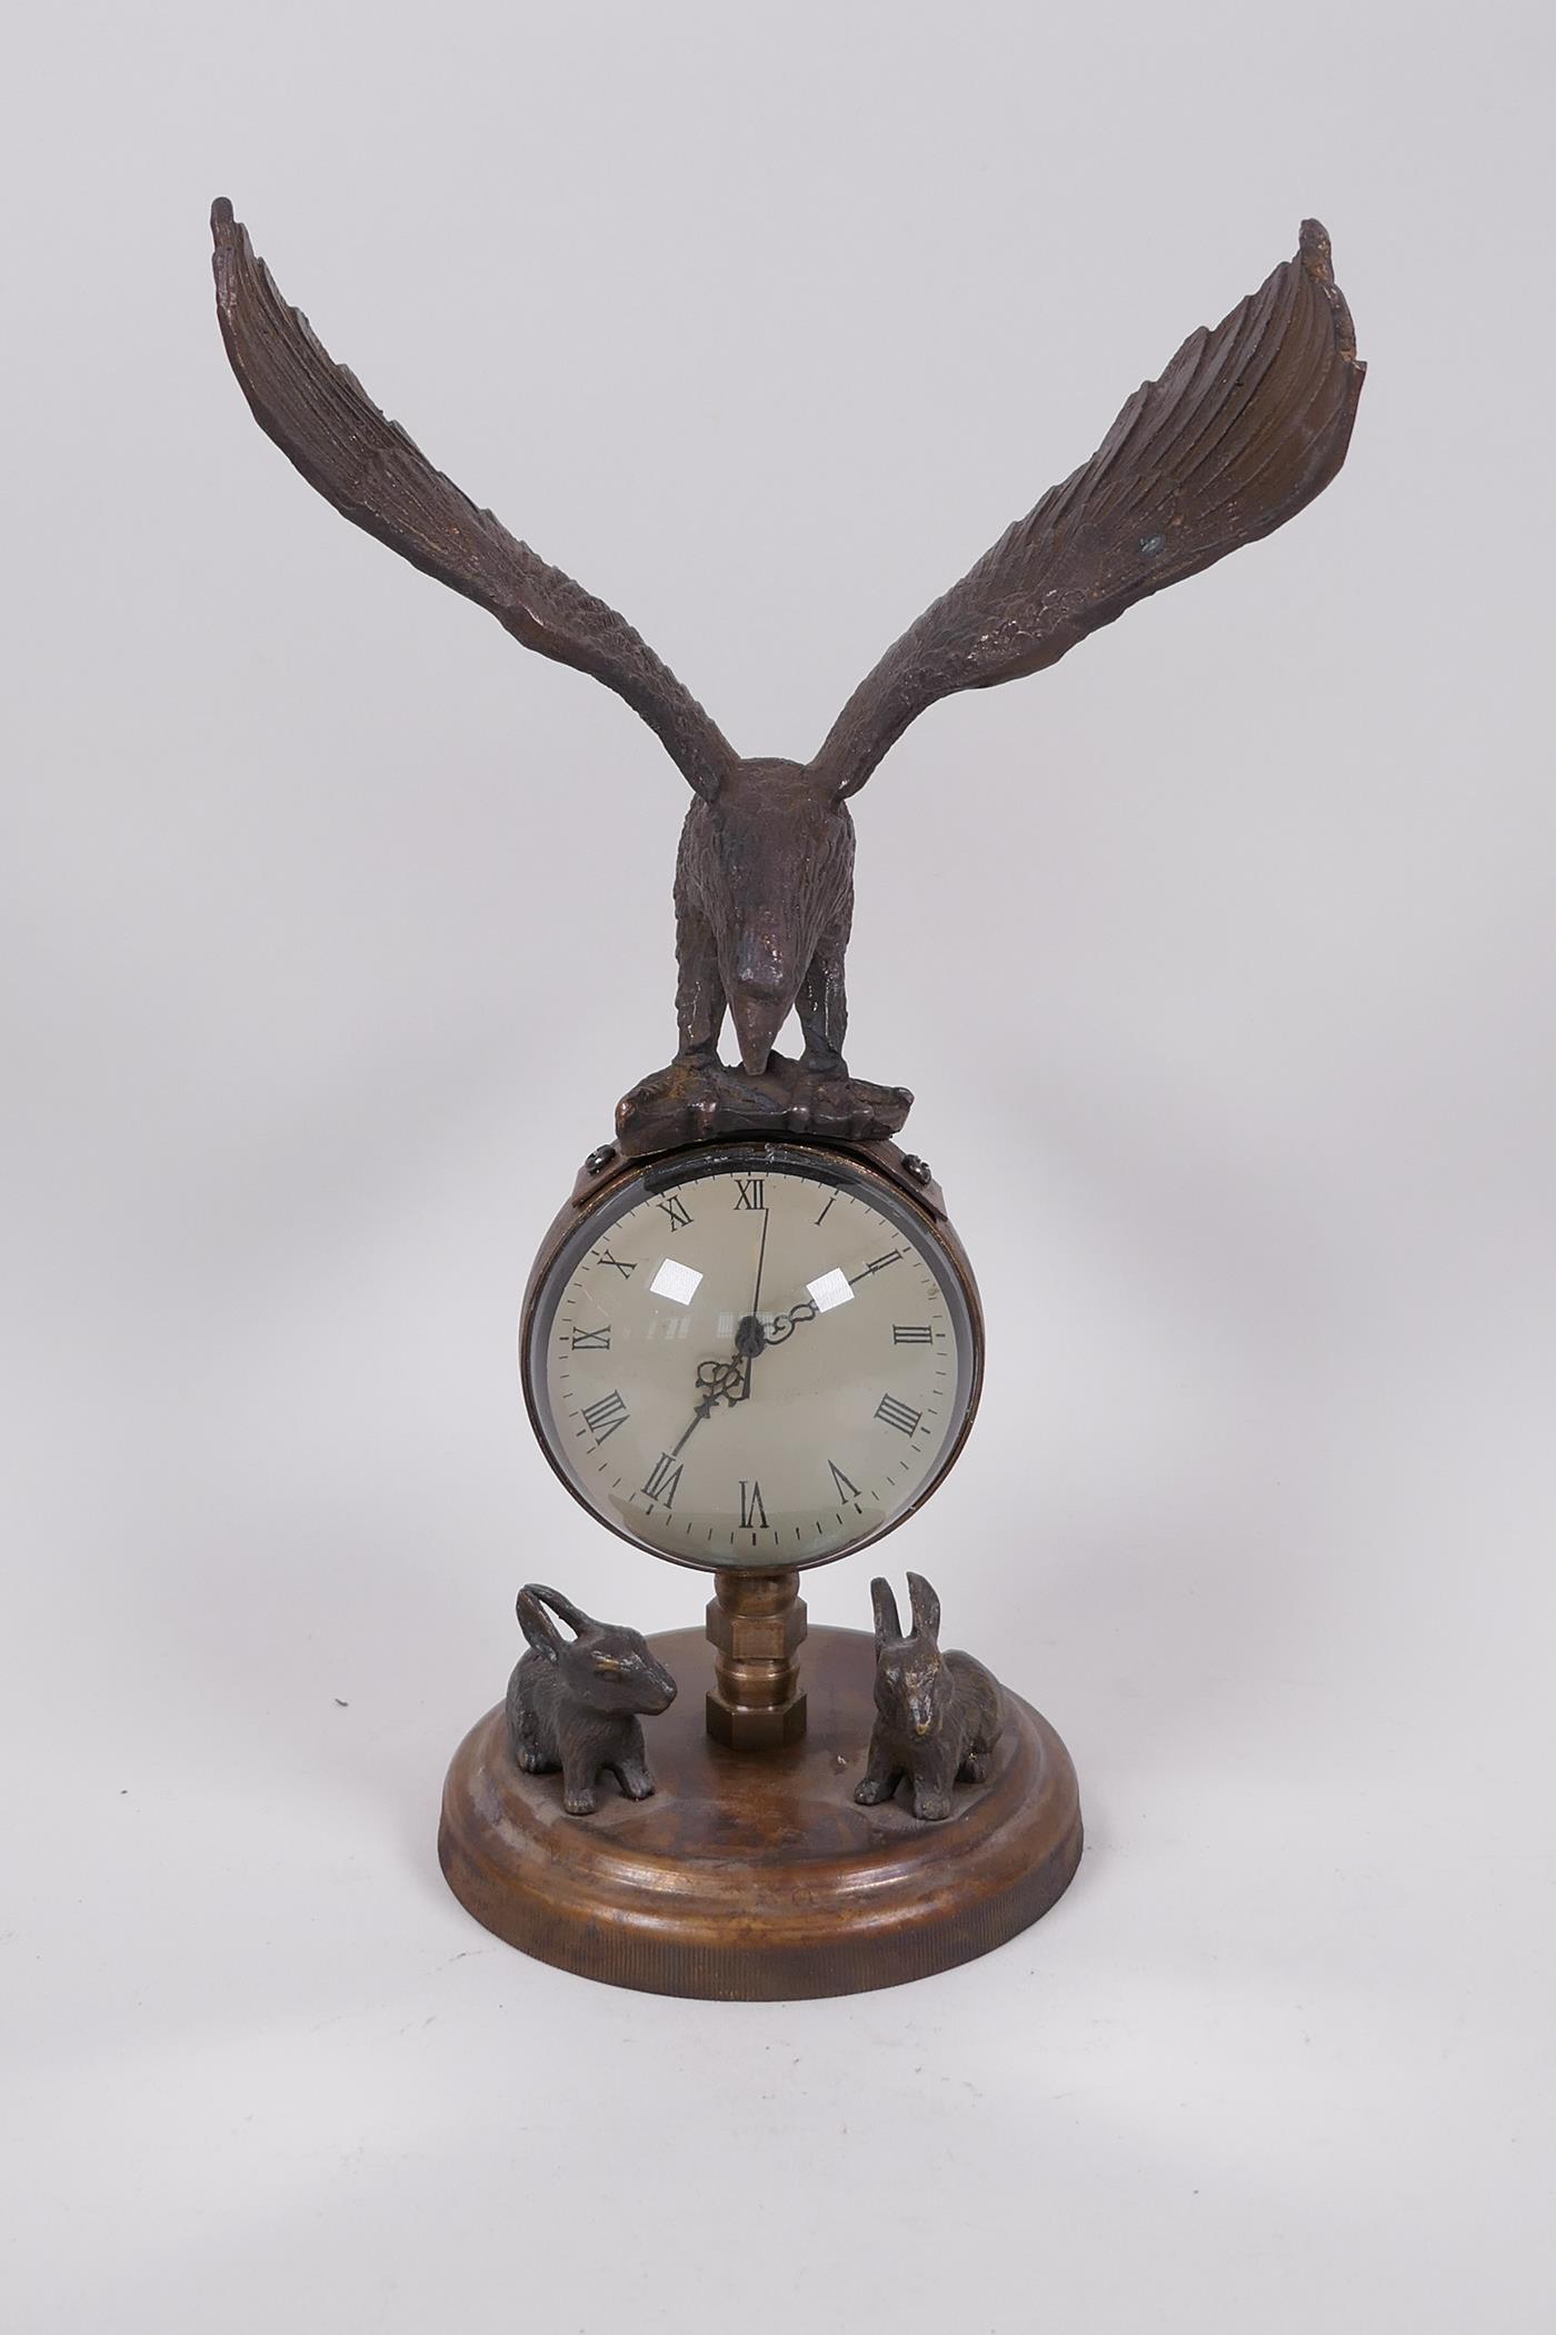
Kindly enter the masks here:
M 390 551 L 490 609 L 527 649 L 593 672 L 658 733 L 698 794 L 714 796 L 735 750 L 646 640 L 476 509 L 378 411 L 308 318 L 285 304 L 226 198 L 212 205 L 210 231 L 217 318 L 233 374 L 254 420 L 303 479 Z

